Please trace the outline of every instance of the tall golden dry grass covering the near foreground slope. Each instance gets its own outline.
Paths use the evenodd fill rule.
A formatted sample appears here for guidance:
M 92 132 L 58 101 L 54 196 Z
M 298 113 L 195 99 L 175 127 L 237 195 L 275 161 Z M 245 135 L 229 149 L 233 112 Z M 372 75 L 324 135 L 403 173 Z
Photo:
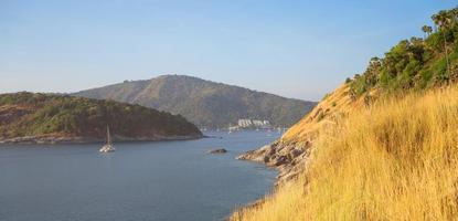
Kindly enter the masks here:
M 313 148 L 307 173 L 232 220 L 458 220 L 458 87 L 353 112 Z

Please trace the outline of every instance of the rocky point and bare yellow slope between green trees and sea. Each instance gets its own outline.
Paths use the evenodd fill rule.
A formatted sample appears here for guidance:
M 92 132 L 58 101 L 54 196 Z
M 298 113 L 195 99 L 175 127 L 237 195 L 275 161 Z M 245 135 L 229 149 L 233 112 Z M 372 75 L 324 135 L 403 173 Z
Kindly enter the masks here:
M 307 170 L 312 143 L 320 131 L 334 125 L 354 108 L 364 106 L 363 98 L 353 101 L 350 87 L 343 84 L 321 101 L 308 115 L 294 125 L 280 139 L 270 145 L 245 152 L 241 160 L 262 162 L 279 170 L 277 182 L 288 181 Z

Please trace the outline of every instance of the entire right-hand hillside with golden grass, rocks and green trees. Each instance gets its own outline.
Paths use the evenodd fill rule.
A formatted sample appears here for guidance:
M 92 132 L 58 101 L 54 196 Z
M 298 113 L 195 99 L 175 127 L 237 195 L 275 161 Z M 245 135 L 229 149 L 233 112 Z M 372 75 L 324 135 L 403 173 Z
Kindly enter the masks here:
M 456 220 L 458 8 L 348 78 L 279 140 L 273 196 L 232 220 Z M 289 180 L 288 182 L 286 182 Z

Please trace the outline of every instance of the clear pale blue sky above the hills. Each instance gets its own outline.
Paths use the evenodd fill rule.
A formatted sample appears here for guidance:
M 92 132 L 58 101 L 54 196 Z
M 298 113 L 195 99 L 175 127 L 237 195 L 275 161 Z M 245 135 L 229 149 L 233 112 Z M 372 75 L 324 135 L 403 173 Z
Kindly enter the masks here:
M 163 74 L 319 101 L 454 0 L 0 0 L 0 93 Z

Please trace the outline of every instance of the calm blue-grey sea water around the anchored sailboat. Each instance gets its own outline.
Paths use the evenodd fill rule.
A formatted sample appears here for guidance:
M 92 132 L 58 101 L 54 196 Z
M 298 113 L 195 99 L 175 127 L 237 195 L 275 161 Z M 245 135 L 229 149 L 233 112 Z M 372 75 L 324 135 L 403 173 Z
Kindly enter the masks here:
M 100 145 L 0 146 L 0 220 L 221 220 L 264 196 L 276 172 L 235 160 L 279 134 Z M 226 155 L 205 151 L 225 148 Z

